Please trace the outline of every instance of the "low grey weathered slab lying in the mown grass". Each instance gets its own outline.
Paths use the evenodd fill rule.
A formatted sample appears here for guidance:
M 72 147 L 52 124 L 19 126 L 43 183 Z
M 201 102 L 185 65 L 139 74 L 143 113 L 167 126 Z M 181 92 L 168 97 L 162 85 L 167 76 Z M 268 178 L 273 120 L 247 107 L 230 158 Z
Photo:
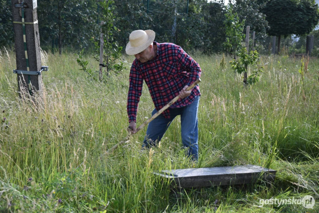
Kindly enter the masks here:
M 276 170 L 256 165 L 223 166 L 209 168 L 192 168 L 162 170 L 154 172 L 167 180 L 171 185 L 179 188 L 193 188 L 203 186 L 225 186 L 249 184 L 258 179 L 271 182 L 275 179 Z

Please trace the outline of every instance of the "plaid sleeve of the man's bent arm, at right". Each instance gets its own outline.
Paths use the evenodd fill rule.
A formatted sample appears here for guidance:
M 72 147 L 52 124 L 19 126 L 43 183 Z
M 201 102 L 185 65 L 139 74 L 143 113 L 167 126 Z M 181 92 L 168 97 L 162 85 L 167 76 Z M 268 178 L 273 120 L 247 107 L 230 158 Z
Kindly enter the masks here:
M 200 66 L 180 46 L 178 46 L 176 60 L 187 72 L 190 73 L 189 81 L 187 83 L 188 86 L 190 86 L 192 83 L 194 83 L 194 81 L 200 78 L 200 75 L 202 73 Z

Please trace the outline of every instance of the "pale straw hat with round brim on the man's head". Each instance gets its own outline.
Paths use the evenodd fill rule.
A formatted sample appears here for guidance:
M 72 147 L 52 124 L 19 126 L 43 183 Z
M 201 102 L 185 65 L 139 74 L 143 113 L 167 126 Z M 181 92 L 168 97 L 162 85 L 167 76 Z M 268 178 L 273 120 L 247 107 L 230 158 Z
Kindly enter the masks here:
M 146 49 L 155 39 L 153 30 L 134 30 L 130 34 L 130 41 L 127 43 L 125 52 L 128 55 L 135 55 Z

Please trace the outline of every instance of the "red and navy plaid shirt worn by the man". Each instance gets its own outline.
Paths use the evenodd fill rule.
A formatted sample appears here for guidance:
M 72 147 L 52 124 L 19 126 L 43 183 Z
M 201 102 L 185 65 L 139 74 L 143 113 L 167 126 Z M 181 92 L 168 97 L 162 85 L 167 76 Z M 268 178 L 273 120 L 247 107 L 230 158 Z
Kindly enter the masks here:
M 157 55 L 145 63 L 134 60 L 130 70 L 130 88 L 127 97 L 129 122 L 136 122 L 138 102 L 142 94 L 143 80 L 150 91 L 156 110 L 160 110 L 185 85 L 191 85 L 201 74 L 198 63 L 184 50 L 173 43 L 157 43 Z M 179 108 L 191 104 L 200 95 L 199 86 L 195 86 L 190 95 L 178 99 L 170 108 Z M 170 118 L 169 108 L 162 115 Z

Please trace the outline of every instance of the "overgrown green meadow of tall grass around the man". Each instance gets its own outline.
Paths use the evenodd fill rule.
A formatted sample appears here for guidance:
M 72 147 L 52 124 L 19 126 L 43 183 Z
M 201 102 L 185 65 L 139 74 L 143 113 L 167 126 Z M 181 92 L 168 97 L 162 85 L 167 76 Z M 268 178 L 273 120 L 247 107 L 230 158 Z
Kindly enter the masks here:
M 14 53 L 0 56 L 0 210 L 20 212 L 317 212 L 319 60 L 310 59 L 304 84 L 300 59 L 262 57 L 260 82 L 244 88 L 221 56 L 195 54 L 202 67 L 199 161 L 181 149 L 180 119 L 160 147 L 140 152 L 146 128 L 111 155 L 127 135 L 129 67 L 107 84 L 91 81 L 76 56 L 43 56 L 44 97 L 19 99 Z M 98 62 L 88 60 L 98 70 Z M 226 62 L 230 58 L 226 58 Z M 227 63 L 228 64 L 228 63 Z M 94 66 L 93 66 L 94 65 Z M 146 85 L 137 125 L 150 117 Z M 152 172 L 255 164 L 277 170 L 274 183 L 170 191 Z M 260 199 L 312 195 L 314 209 L 264 205 Z

